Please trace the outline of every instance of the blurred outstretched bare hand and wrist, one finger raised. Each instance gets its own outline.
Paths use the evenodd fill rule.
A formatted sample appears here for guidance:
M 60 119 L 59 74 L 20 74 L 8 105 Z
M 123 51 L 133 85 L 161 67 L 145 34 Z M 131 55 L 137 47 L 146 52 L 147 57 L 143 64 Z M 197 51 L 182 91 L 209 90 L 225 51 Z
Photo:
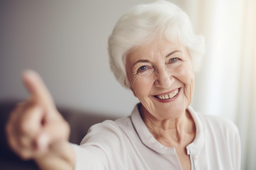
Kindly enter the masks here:
M 42 170 L 73 170 L 70 126 L 58 113 L 40 76 L 26 71 L 22 78 L 30 95 L 16 106 L 7 121 L 9 146 L 22 159 L 34 159 Z

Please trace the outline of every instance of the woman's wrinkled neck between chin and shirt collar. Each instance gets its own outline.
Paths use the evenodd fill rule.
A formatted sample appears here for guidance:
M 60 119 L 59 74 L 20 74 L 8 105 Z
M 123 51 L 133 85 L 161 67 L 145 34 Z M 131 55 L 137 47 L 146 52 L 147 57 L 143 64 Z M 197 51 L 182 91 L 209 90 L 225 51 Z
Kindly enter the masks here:
M 195 124 L 191 114 L 186 109 L 179 114 L 179 117 L 175 118 L 155 117 L 142 105 L 140 113 L 148 130 L 164 146 L 188 145 L 195 137 Z

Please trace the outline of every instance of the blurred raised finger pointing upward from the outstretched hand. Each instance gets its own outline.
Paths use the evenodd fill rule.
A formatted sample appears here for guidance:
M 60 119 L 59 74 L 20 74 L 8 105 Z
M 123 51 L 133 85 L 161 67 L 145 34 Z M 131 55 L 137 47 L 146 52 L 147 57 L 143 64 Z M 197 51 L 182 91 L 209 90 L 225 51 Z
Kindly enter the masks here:
M 26 70 L 22 74 L 22 80 L 32 99 L 35 99 L 36 102 L 44 107 L 54 107 L 52 96 L 38 73 L 32 70 Z

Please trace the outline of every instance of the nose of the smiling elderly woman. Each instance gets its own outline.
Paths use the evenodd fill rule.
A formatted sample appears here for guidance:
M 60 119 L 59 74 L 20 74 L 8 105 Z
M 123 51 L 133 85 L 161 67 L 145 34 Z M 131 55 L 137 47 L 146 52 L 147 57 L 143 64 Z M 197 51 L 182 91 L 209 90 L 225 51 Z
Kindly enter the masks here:
M 158 88 L 169 88 L 174 82 L 174 77 L 166 70 L 156 73 L 155 86 Z

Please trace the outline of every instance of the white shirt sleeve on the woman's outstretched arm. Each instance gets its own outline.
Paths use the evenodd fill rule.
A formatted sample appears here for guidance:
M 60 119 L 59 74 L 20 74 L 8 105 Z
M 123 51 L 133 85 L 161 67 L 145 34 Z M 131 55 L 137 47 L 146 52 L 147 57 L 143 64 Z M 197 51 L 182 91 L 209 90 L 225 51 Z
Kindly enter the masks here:
M 75 170 L 113 170 L 129 167 L 126 137 L 114 121 L 93 125 L 81 141 L 72 145 Z

